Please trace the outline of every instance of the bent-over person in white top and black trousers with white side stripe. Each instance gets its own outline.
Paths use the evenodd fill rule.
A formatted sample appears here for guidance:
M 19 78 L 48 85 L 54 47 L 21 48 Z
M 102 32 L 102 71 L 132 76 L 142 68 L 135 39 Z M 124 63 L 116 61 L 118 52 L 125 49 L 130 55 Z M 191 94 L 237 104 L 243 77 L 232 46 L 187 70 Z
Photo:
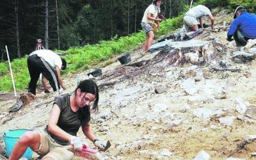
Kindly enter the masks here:
M 49 81 L 54 92 L 60 90 L 60 86 L 65 90 L 61 81 L 60 70 L 65 70 L 66 67 L 67 62 L 51 50 L 40 49 L 31 52 L 28 56 L 28 70 L 30 75 L 28 92 L 36 95 L 36 83 L 40 73 Z

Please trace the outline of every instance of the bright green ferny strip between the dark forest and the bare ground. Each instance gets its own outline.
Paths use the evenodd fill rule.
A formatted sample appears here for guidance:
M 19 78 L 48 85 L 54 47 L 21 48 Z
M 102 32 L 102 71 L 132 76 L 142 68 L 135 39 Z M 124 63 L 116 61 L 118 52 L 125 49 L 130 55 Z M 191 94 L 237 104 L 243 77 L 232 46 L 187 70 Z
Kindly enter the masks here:
M 161 31 L 157 36 L 170 33 L 182 25 L 182 16 L 174 19 L 168 19 L 161 22 Z M 99 61 L 108 60 L 115 54 L 129 51 L 141 45 L 145 41 L 145 33 L 140 31 L 130 36 L 120 37 L 109 41 L 102 41 L 99 44 L 85 45 L 84 47 L 72 47 L 68 49 L 67 55 L 64 57 L 70 66 L 65 70 L 65 74 L 76 70 L 84 70 L 88 66 L 98 63 Z M 27 58 L 16 59 L 12 61 L 12 70 L 17 90 L 24 90 L 28 87 L 29 73 L 27 67 Z M 8 68 L 8 63 L 0 63 L 0 91 L 11 91 L 12 81 Z

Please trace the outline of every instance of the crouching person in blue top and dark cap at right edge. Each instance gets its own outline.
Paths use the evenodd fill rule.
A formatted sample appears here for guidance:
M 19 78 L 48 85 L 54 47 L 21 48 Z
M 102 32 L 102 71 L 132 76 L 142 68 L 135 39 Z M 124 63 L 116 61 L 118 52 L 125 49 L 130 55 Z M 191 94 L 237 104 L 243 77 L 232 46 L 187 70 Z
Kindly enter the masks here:
M 243 6 L 238 6 L 234 13 L 234 20 L 227 33 L 227 40 L 232 41 L 232 36 L 237 47 L 247 44 L 249 39 L 256 38 L 256 15 L 246 12 Z

